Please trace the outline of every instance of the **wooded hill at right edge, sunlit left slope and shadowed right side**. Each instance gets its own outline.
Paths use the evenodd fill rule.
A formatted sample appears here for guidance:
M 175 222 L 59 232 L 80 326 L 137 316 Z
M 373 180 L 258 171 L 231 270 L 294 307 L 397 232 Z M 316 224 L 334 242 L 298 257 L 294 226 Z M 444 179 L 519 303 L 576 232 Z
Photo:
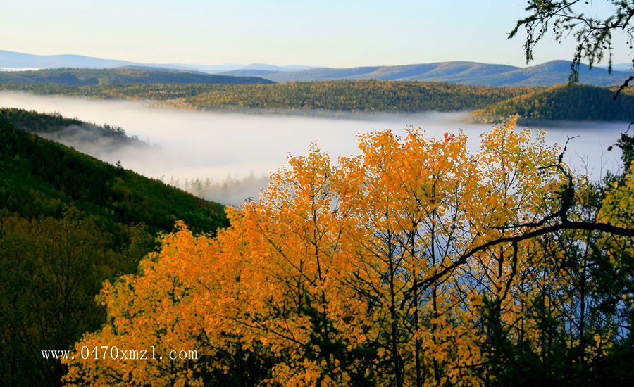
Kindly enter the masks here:
M 501 122 L 511 115 L 526 121 L 633 121 L 634 95 L 624 92 L 614 101 L 614 89 L 567 84 L 541 89 L 473 112 L 480 122 Z

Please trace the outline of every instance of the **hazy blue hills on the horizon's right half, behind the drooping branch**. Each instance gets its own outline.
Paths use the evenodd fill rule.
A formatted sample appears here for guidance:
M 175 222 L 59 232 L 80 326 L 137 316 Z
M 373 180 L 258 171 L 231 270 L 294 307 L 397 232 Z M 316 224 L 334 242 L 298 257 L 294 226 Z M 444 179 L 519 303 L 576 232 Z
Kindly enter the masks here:
M 399 66 L 369 66 L 359 68 L 313 68 L 300 71 L 271 72 L 262 74 L 275 82 L 323 81 L 323 80 L 411 80 L 449 82 L 474 86 L 552 86 L 568 82 L 571 68 L 568 61 L 551 61 L 528 68 L 475 62 L 439 62 Z M 225 72 L 232 75 L 233 72 Z M 254 75 L 244 71 L 240 75 Z M 594 86 L 621 84 L 627 72 L 604 68 L 588 68 L 581 65 L 580 82 Z

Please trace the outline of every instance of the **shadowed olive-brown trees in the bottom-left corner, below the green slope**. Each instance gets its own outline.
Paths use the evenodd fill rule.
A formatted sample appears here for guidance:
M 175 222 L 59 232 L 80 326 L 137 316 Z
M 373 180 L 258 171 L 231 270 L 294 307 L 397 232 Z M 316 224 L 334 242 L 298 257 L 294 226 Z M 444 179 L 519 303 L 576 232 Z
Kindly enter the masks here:
M 101 281 L 135 265 L 147 234 L 129 227 L 130 243 L 116 250 L 94 217 L 73 207 L 41 220 L 0 210 L 0 229 L 0 385 L 58 386 L 66 369 L 42 350 L 68 348 L 101 326 Z

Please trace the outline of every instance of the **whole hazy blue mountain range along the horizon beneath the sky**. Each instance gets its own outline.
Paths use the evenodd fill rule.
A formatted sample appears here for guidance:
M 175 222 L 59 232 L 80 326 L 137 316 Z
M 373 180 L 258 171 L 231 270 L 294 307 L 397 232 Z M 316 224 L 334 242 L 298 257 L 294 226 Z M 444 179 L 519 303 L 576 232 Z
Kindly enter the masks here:
M 79 55 L 31 55 L 0 51 L 0 69 L 39 68 L 124 68 L 137 70 L 178 70 L 232 77 L 259 77 L 274 82 L 326 80 L 416 80 L 448 82 L 475 86 L 552 86 L 568 82 L 569 61 L 550 61 L 527 68 L 476 62 L 437 62 L 414 65 L 367 66 L 357 68 L 311 68 L 302 65 L 185 65 L 180 63 L 133 63 L 113 59 Z M 621 71 L 626 70 L 626 71 Z M 613 86 L 632 75 L 632 65 L 613 65 L 611 74 L 606 68 L 581 65 L 580 82 L 593 86 Z

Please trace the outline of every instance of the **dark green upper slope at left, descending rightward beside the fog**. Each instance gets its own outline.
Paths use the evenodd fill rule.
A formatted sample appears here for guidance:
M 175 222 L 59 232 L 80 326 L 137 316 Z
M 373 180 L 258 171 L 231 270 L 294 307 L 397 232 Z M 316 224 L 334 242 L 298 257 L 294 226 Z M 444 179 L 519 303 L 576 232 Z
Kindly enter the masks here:
M 58 216 L 72 203 L 110 224 L 166 231 L 175 220 L 199 231 L 225 224 L 221 205 L 0 122 L 1 208 L 27 218 Z

